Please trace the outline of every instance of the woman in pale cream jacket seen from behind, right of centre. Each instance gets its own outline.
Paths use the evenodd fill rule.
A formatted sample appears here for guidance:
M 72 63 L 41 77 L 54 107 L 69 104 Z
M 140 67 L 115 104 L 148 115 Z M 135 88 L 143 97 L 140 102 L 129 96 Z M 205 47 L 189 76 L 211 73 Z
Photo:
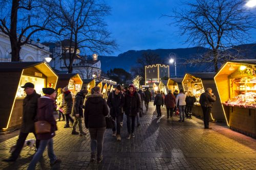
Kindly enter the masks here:
M 184 90 L 180 89 L 180 93 L 176 98 L 176 106 L 179 106 L 180 119 L 179 122 L 185 121 L 185 106 L 186 106 L 186 94 L 184 94 Z M 178 103 L 179 102 L 179 103 Z

